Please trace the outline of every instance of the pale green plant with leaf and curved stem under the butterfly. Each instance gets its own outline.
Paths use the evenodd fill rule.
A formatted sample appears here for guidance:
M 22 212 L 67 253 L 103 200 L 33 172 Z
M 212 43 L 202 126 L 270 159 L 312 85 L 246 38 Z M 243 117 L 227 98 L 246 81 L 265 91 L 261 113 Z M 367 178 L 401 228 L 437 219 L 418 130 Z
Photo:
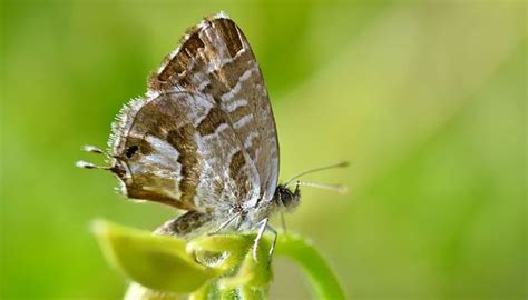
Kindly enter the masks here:
M 189 242 L 96 221 L 94 232 L 108 262 L 133 283 L 126 299 L 265 299 L 273 279 L 271 237 L 252 254 L 254 233 L 204 236 Z M 317 299 L 344 299 L 330 268 L 304 238 L 280 234 L 276 256 L 306 271 Z

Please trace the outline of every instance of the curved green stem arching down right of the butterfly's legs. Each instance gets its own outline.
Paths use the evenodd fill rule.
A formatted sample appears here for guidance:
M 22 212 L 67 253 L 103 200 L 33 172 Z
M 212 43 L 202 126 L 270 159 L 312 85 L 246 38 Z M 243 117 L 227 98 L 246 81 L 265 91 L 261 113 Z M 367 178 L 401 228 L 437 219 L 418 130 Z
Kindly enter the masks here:
M 338 279 L 309 240 L 296 234 L 278 234 L 276 254 L 292 259 L 306 271 L 315 299 L 345 299 Z

